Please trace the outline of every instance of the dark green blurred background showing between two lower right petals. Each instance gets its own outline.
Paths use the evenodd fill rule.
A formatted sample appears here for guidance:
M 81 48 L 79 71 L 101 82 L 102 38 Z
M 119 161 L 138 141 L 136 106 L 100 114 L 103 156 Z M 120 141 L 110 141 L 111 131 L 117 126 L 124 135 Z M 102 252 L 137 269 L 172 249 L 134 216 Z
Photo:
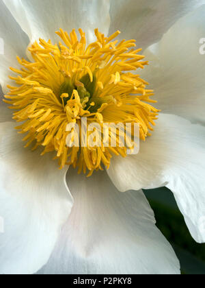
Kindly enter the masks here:
M 156 226 L 172 244 L 181 264 L 182 274 L 205 274 L 205 244 L 191 237 L 174 195 L 169 189 L 144 190 L 156 217 Z

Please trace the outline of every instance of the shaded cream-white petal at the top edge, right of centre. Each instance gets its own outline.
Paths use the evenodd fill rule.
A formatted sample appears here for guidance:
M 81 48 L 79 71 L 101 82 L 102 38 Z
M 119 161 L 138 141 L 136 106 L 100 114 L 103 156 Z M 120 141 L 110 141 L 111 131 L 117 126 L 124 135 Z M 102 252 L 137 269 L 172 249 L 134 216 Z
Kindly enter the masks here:
M 146 48 L 159 41 L 175 21 L 204 4 L 204 0 L 111 0 L 110 34 L 120 29 L 121 38 L 136 39 Z

